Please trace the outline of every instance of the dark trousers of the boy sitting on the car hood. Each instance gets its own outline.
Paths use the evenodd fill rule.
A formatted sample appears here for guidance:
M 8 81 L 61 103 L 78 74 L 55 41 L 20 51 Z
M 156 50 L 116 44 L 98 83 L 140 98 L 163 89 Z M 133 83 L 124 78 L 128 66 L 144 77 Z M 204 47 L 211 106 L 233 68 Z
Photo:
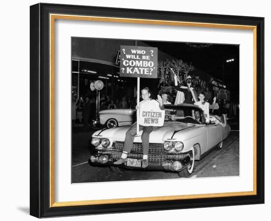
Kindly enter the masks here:
M 143 154 L 148 154 L 149 151 L 149 137 L 150 133 L 153 131 L 153 126 L 141 126 L 139 125 L 139 130 L 143 130 L 141 135 L 142 140 L 142 147 L 143 147 Z M 133 126 L 126 132 L 124 146 L 123 146 L 123 152 L 130 153 L 134 139 L 136 135 L 136 122 L 133 124 Z

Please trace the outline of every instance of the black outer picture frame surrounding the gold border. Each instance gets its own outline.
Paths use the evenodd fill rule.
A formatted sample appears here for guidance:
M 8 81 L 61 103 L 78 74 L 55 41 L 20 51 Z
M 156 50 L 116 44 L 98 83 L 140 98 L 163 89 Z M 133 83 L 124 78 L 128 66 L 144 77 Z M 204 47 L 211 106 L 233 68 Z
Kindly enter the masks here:
M 50 14 L 255 26 L 256 194 L 52 207 L 50 198 Z M 38 3 L 30 7 L 30 214 L 37 218 L 264 203 L 264 18 Z

